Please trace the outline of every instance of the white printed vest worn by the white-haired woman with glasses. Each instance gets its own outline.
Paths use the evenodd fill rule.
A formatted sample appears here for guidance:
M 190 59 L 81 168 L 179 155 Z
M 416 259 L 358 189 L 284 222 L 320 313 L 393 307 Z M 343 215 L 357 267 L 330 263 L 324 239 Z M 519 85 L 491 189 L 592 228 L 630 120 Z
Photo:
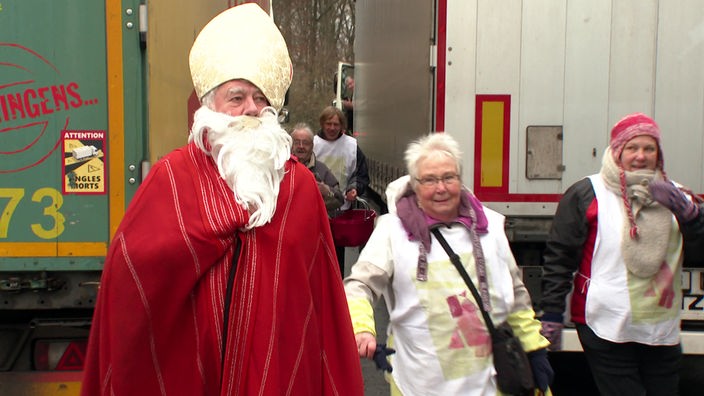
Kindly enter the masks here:
M 503 216 L 487 208 L 484 211 L 489 233 L 480 240 L 486 256 L 491 316 L 498 324 L 515 308 L 518 269 L 505 237 Z M 478 284 L 467 229 L 454 224 L 441 227 L 441 232 Z M 435 237 L 428 253 L 428 281 L 418 281 L 418 249 L 419 242 L 408 240 L 400 219 L 387 214 L 379 218 L 359 256 L 359 262 L 378 266 L 391 276 L 384 297 L 389 340 L 396 349 L 390 356 L 394 382 L 404 396 L 496 395 L 490 336 L 477 304 Z

